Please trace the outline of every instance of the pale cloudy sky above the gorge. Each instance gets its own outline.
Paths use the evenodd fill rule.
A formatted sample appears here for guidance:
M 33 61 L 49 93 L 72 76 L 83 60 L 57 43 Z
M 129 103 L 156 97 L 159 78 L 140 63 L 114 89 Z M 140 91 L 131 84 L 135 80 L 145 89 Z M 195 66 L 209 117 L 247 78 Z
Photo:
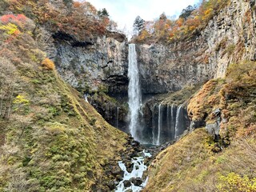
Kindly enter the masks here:
M 162 12 L 167 16 L 179 15 L 186 6 L 199 0 L 86 0 L 97 10 L 106 8 L 110 18 L 118 23 L 118 29 L 132 30 L 134 19 L 139 15 L 145 21 L 158 18 Z

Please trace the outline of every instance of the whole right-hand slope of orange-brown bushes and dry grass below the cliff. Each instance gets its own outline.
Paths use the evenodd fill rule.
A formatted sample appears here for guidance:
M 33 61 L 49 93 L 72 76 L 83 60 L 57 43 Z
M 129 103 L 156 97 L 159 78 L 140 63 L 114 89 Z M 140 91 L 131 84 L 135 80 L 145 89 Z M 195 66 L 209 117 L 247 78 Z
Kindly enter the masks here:
M 198 129 L 163 150 L 145 191 L 256 191 L 255 74 L 255 62 L 239 62 L 225 79 L 202 86 L 190 99 L 190 118 L 211 123 L 221 109 L 220 138 Z

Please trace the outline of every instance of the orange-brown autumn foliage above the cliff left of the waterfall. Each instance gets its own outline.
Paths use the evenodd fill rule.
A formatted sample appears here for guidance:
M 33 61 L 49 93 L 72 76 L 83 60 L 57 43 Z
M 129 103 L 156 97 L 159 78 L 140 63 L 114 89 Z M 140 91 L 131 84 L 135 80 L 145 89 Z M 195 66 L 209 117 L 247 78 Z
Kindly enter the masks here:
M 76 36 L 79 40 L 92 35 L 106 34 L 106 26 L 110 23 L 109 18 L 98 18 L 97 10 L 90 2 L 74 2 L 71 7 L 62 2 L 57 8 L 48 0 L 9 0 L 6 3 L 7 11 L 18 14 L 22 10 L 35 22 L 45 25 L 48 30 L 60 30 Z M 25 16 L 14 14 L 2 18 L 2 22 L 8 22 L 10 19 L 22 22 L 22 19 L 25 19 Z

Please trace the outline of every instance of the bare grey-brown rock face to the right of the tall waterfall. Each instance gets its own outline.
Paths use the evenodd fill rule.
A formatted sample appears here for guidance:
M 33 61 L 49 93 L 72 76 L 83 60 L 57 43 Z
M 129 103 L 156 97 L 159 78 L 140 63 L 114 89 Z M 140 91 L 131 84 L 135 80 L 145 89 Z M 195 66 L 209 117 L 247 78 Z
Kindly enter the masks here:
M 166 93 L 222 78 L 230 63 L 256 60 L 255 21 L 255 1 L 231 0 L 190 38 L 169 46 L 137 46 L 142 93 Z

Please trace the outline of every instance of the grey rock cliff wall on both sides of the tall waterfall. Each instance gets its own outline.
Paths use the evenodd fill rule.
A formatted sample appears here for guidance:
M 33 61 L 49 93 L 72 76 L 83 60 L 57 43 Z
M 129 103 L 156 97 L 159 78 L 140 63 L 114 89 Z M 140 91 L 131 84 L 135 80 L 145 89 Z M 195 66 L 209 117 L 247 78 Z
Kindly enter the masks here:
M 206 26 L 185 39 L 169 45 L 136 45 L 142 94 L 150 98 L 202 84 L 211 78 L 222 78 L 232 62 L 256 60 L 254 10 L 254 1 L 231 0 Z M 123 98 L 128 86 L 128 42 L 124 35 L 108 32 L 85 42 L 59 32 L 50 37 L 46 51 L 66 82 L 83 92 L 103 91 L 126 103 Z M 105 98 L 96 97 L 94 101 L 95 108 L 112 125 L 118 124 L 116 111 L 125 111 L 119 117 L 126 130 L 127 110 Z M 145 125 L 152 124 L 153 114 L 153 110 L 148 111 Z

